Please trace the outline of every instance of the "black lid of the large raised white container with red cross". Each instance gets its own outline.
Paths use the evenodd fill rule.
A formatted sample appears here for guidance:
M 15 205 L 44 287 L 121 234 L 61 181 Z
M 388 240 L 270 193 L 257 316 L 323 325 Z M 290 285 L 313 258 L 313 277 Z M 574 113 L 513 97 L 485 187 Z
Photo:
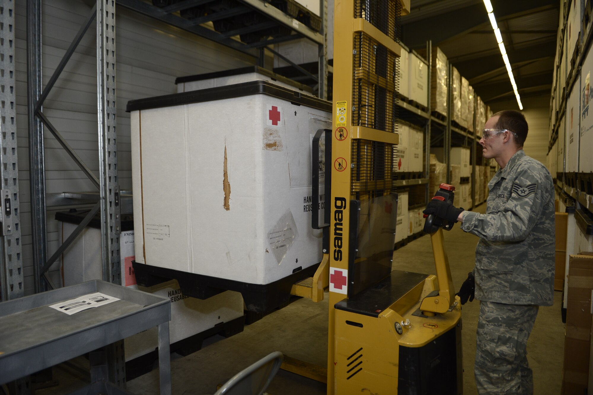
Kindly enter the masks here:
M 182 104 L 203 103 L 206 101 L 224 100 L 228 98 L 244 97 L 264 94 L 290 101 L 297 106 L 307 106 L 313 109 L 331 112 L 331 102 L 318 97 L 302 94 L 289 88 L 279 87 L 268 81 L 250 81 L 242 84 L 226 85 L 224 87 L 201 89 L 170 95 L 147 97 L 127 102 L 126 112 L 162 107 L 180 106 Z

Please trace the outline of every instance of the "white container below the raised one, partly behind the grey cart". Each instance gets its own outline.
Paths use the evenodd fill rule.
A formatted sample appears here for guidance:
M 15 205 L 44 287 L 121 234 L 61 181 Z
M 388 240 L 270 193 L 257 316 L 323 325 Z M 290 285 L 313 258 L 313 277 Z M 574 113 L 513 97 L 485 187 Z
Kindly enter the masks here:
M 243 316 L 243 297 L 239 292 L 225 291 L 199 300 L 183 295 L 176 280 L 151 287 L 139 286 L 138 289 L 171 298 L 170 344 Z M 126 361 L 152 352 L 158 348 L 158 328 L 126 337 L 123 345 Z

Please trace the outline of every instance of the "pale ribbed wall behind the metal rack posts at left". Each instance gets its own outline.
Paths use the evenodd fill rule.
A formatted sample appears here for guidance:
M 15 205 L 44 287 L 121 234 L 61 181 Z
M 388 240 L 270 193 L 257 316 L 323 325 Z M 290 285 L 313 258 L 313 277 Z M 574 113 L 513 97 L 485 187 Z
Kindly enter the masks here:
M 92 4 L 91 0 L 43 1 L 44 84 L 58 66 Z M 33 253 L 28 174 L 25 5 L 24 1 L 17 2 L 15 15 L 15 89 L 25 294 L 31 294 Z M 47 98 L 44 113 L 91 171 L 98 175 L 95 32 L 96 27 L 93 24 Z M 177 77 L 253 65 L 255 59 L 122 7 L 117 7 L 116 48 L 117 167 L 120 187 L 129 190 L 132 188 L 132 167 L 129 114 L 125 112 L 127 101 L 175 93 L 177 90 L 174 81 Z M 95 190 L 93 184 L 47 130 L 44 144 L 47 193 Z M 48 256 L 59 245 L 55 212 L 53 209 L 47 212 Z M 60 283 L 61 275 L 56 266 L 50 270 L 50 276 L 53 281 Z

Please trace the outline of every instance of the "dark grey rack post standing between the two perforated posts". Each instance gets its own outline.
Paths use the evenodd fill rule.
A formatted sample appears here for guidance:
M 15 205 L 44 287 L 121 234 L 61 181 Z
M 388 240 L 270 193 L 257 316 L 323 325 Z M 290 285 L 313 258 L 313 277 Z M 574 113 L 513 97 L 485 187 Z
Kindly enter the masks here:
M 43 125 L 35 116 L 42 93 L 42 2 L 27 1 L 27 119 L 29 129 L 29 178 L 31 186 L 31 235 L 33 237 L 33 285 L 47 291 L 42 267 L 47 260 L 45 159 Z

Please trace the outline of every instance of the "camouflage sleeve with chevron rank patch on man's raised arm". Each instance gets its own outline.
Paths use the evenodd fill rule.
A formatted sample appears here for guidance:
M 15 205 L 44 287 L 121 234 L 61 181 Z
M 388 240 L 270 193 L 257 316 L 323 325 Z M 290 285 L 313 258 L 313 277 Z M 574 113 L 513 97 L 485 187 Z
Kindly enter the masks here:
M 461 229 L 487 241 L 525 240 L 543 208 L 548 187 L 539 169 L 521 166 L 509 199 L 496 199 L 490 214 L 464 212 Z

